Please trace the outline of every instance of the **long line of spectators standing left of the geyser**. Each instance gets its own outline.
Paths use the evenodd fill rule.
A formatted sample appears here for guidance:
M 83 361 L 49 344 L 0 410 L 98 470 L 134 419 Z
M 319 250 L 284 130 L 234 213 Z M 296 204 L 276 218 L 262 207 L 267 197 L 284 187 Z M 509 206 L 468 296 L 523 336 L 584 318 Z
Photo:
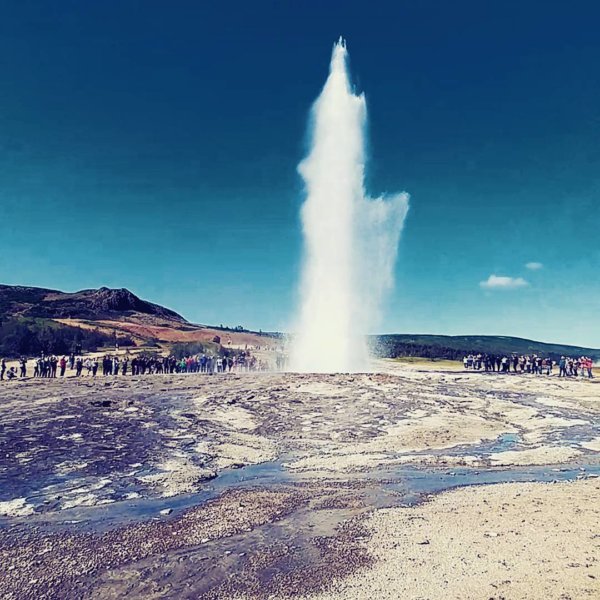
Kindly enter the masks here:
M 176 358 L 175 356 L 145 355 L 112 355 L 103 357 L 40 356 L 33 363 L 22 357 L 19 368 L 7 367 L 6 360 L 0 361 L 0 381 L 23 378 L 32 375 L 35 378 L 64 377 L 67 369 L 74 371 L 75 377 L 87 375 L 96 377 L 101 370 L 102 375 L 148 375 L 156 373 L 241 373 L 250 371 L 267 371 L 269 364 L 257 359 L 249 351 L 230 352 L 226 355 L 197 354 Z

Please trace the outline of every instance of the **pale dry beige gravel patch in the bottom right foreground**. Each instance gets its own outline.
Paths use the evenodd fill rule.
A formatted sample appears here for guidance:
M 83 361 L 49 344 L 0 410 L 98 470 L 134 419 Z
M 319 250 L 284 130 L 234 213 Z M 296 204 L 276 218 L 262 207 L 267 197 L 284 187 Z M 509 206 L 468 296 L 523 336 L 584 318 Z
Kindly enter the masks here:
M 462 488 L 366 520 L 373 563 L 312 600 L 600 597 L 600 482 Z

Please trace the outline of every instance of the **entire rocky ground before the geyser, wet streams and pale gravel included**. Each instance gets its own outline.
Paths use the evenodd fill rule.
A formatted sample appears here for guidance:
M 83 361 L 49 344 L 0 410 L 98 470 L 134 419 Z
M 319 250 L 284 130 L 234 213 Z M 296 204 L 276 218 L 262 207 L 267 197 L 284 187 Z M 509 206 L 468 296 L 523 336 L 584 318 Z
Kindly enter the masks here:
M 600 386 L 377 368 L 4 382 L 0 597 L 598 597 Z

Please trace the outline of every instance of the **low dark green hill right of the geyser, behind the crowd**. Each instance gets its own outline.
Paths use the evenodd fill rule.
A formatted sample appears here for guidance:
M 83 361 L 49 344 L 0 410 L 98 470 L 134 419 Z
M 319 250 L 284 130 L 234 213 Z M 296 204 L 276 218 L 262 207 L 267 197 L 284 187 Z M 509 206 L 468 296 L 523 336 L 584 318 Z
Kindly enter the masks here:
M 465 354 L 537 354 L 551 358 L 589 356 L 600 360 L 600 349 L 548 344 L 498 335 L 387 334 L 373 336 L 374 352 L 382 357 L 422 356 L 460 360 Z

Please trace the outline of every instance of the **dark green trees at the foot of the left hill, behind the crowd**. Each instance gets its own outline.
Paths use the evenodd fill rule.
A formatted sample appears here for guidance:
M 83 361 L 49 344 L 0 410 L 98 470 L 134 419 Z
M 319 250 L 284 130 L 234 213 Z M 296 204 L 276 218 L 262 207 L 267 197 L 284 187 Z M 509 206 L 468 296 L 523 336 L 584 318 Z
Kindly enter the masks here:
M 0 356 L 69 354 L 103 346 L 135 346 L 128 336 L 109 335 L 98 329 L 60 325 L 44 319 L 9 319 L 0 324 Z

